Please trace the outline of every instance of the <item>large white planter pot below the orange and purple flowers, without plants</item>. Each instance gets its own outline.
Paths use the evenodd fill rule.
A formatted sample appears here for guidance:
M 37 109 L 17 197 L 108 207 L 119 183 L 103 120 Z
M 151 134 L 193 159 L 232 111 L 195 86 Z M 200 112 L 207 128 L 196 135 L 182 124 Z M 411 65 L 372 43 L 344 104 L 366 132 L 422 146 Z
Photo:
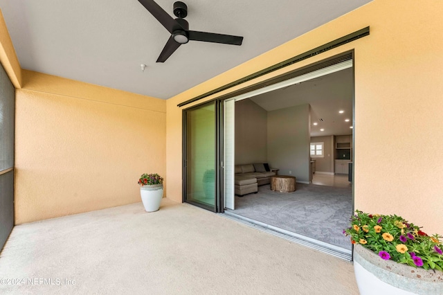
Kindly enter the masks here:
M 354 247 L 354 273 L 361 295 L 443 294 L 443 272 L 383 260 L 357 244 Z

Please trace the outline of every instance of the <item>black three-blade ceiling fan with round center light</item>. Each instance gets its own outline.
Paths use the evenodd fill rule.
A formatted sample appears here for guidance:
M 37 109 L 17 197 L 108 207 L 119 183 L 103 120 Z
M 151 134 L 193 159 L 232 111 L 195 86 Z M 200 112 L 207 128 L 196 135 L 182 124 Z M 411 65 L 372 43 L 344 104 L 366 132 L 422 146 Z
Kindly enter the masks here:
M 188 21 L 184 19 L 186 15 L 188 15 L 188 6 L 181 1 L 174 3 L 174 15 L 177 19 L 173 19 L 168 15 L 168 12 L 165 12 L 165 10 L 153 0 L 138 1 L 171 33 L 171 37 L 168 39 L 168 42 L 166 42 L 157 62 L 165 62 L 165 60 L 168 60 L 168 57 L 170 57 L 181 44 L 186 44 L 189 40 L 242 45 L 243 37 L 189 30 Z

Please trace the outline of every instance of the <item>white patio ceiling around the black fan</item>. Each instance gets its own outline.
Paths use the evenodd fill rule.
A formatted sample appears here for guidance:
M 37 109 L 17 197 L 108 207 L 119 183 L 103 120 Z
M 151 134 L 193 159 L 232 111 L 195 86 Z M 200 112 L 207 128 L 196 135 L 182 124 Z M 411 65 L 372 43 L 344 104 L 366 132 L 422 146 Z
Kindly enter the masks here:
M 23 69 L 167 99 L 370 0 L 184 2 L 191 30 L 240 35 L 242 46 L 192 41 L 162 64 L 170 34 L 137 0 L 0 0 L 0 8 Z M 157 3 L 173 16 L 173 0 Z

